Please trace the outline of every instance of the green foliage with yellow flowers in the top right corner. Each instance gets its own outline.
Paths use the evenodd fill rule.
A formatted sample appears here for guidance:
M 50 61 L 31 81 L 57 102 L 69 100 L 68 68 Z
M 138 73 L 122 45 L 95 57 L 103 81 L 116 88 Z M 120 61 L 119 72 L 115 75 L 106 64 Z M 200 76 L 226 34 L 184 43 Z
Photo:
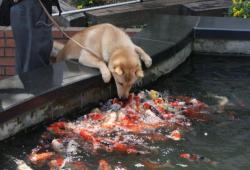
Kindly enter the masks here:
M 241 18 L 250 18 L 250 0 L 232 0 L 229 15 Z

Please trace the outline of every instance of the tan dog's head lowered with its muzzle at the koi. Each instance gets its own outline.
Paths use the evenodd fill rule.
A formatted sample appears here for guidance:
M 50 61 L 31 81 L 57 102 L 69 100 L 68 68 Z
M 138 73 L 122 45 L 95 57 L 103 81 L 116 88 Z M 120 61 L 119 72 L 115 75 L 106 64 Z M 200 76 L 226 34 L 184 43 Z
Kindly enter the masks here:
M 120 98 L 127 98 L 136 80 L 144 76 L 136 52 L 118 52 L 115 57 L 111 58 L 109 69 L 114 77 Z

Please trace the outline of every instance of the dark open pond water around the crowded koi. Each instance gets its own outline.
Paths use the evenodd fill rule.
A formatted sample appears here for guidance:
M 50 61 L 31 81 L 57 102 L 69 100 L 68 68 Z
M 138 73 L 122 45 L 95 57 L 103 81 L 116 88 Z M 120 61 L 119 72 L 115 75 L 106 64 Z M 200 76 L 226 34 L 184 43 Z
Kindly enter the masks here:
M 249 58 L 191 56 L 173 73 L 161 77 L 145 88 L 171 95 L 195 97 L 214 109 L 218 108 L 221 99 L 227 101 L 224 103 L 224 109 L 220 110 L 221 113 L 214 113 L 213 121 L 206 124 L 194 123 L 193 129 L 185 133 L 182 141 L 158 143 L 157 145 L 161 148 L 160 152 L 147 155 L 147 159 L 159 163 L 169 160 L 175 167 L 167 169 L 249 169 Z M 41 125 L 2 141 L 0 143 L 1 169 L 16 169 L 14 158 L 27 162 L 27 154 L 36 146 L 45 127 L 45 125 Z M 217 164 L 212 165 L 206 161 L 188 161 L 180 158 L 180 153 L 199 154 L 216 161 Z M 145 169 L 145 167 L 140 167 L 142 165 L 140 160 L 144 158 L 138 155 L 103 153 L 101 157 L 107 158 L 112 164 L 126 164 L 128 169 Z M 86 159 L 94 162 L 92 159 L 99 158 L 96 156 Z M 181 165 L 187 165 L 187 167 Z

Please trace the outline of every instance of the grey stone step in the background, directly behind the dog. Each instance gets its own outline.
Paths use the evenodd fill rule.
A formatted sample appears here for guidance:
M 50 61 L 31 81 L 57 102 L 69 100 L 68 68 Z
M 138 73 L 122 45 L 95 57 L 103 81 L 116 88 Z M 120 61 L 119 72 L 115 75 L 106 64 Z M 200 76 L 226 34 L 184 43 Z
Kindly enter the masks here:
M 140 25 L 150 20 L 154 14 L 198 15 L 209 11 L 209 14 L 220 16 L 221 13 L 225 13 L 223 10 L 229 7 L 230 2 L 230 0 L 144 0 L 141 3 L 89 11 L 86 15 L 93 24 L 110 22 L 126 27 Z

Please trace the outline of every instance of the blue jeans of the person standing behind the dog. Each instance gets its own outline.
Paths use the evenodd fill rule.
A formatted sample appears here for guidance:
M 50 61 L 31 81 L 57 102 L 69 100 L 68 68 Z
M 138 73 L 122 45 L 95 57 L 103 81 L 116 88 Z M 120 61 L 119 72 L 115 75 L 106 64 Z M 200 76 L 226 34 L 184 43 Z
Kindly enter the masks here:
M 49 64 L 53 46 L 51 24 L 38 0 L 22 0 L 11 8 L 17 74 Z

